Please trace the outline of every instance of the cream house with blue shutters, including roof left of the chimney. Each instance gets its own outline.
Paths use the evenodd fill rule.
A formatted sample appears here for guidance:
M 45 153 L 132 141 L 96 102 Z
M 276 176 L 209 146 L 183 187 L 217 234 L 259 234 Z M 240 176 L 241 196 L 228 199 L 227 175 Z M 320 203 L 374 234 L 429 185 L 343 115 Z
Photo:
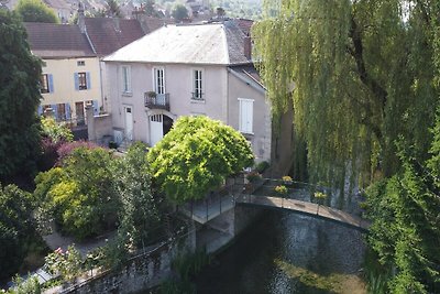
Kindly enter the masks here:
M 85 124 L 85 106 L 98 115 L 102 97 L 99 58 L 77 25 L 24 23 L 31 51 L 43 59 L 38 113 Z

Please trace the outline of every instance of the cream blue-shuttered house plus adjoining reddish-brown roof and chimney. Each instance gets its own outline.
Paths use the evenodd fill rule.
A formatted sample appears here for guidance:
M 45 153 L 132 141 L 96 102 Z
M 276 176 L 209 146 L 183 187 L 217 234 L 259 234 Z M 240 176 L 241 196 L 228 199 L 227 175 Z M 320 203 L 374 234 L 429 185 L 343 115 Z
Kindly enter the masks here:
M 138 40 L 144 32 L 136 20 L 85 18 L 77 24 L 25 23 L 31 51 L 43 59 L 38 113 L 51 111 L 73 127 L 86 123 L 85 107 L 94 115 L 108 110 L 101 58 Z

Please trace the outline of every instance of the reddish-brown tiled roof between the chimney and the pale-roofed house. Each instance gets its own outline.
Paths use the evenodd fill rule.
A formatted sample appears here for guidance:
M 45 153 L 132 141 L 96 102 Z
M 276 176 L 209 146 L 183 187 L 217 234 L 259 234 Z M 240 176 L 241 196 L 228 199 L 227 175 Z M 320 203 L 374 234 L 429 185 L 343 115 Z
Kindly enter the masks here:
M 142 37 L 144 32 L 138 20 L 113 18 L 85 18 L 87 34 L 100 56 Z

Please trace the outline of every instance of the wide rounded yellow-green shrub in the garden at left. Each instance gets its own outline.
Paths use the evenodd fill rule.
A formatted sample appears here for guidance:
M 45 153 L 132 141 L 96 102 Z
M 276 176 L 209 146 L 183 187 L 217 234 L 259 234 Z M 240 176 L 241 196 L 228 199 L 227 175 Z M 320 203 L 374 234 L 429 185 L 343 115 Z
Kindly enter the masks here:
M 38 174 L 34 194 L 45 211 L 42 215 L 53 215 L 65 232 L 79 239 L 112 228 L 119 208 L 112 160 L 105 149 L 78 148 L 62 167 Z

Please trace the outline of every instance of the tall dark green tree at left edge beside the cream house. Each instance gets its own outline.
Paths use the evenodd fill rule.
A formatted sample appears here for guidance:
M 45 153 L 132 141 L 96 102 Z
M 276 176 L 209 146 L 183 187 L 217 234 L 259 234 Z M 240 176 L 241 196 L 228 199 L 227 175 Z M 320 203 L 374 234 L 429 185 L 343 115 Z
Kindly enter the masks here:
M 0 9 L 0 179 L 35 168 L 41 62 L 15 13 Z

